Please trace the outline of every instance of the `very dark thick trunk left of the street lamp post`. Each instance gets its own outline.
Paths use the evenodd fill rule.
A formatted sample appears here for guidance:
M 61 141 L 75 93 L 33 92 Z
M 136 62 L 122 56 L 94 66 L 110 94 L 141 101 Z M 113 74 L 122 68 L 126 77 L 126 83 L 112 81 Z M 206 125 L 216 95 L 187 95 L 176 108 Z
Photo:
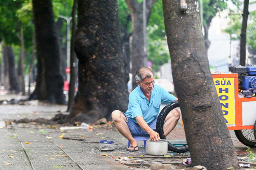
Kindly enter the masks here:
M 37 78 L 30 99 L 66 104 L 63 78 L 60 73 L 60 53 L 51 0 L 33 0 L 36 32 Z

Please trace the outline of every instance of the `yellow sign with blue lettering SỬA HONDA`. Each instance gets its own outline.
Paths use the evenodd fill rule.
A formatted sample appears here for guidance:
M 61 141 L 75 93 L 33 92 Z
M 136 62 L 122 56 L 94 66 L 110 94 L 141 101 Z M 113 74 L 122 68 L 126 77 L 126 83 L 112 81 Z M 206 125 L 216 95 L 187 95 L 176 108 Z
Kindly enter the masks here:
M 213 78 L 223 116 L 227 124 L 235 124 L 234 78 Z

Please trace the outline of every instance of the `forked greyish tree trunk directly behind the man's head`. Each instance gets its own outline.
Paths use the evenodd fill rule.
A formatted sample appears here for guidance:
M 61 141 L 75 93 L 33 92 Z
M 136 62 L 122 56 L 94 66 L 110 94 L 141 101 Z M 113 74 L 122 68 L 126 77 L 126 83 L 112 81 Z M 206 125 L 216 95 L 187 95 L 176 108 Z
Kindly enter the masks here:
M 151 8 L 157 0 L 146 0 L 146 20 L 149 20 Z M 143 3 L 138 3 L 136 0 L 125 0 L 131 14 L 131 21 L 133 27 L 132 42 L 131 42 L 131 62 L 132 71 L 135 72 L 147 66 L 147 51 L 144 51 L 144 33 L 143 33 Z M 147 24 L 146 24 L 147 25 Z M 145 34 L 145 36 L 147 36 Z M 146 42 L 147 44 L 147 42 Z M 147 45 L 146 45 L 147 46 Z M 135 78 L 132 80 L 133 89 L 137 87 Z

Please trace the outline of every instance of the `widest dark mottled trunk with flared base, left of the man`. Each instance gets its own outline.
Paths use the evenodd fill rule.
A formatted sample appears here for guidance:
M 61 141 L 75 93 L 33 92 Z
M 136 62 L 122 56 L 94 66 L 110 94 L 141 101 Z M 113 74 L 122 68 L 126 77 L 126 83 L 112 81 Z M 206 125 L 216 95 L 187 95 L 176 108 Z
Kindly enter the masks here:
M 110 119 L 126 111 L 128 91 L 116 0 L 78 1 L 78 93 L 66 121 Z

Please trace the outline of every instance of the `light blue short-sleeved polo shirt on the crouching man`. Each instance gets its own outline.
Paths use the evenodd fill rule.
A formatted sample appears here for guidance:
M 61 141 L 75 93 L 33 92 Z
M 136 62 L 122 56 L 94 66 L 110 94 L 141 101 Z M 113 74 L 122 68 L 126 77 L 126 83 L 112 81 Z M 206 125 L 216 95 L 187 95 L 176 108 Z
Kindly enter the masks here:
M 125 114 L 135 123 L 137 123 L 135 117 L 142 116 L 147 124 L 150 124 L 158 115 L 161 102 L 167 105 L 175 99 L 176 97 L 164 90 L 163 87 L 154 85 L 149 103 L 149 100 L 143 94 L 140 86 L 138 86 L 129 95 L 128 110 Z

